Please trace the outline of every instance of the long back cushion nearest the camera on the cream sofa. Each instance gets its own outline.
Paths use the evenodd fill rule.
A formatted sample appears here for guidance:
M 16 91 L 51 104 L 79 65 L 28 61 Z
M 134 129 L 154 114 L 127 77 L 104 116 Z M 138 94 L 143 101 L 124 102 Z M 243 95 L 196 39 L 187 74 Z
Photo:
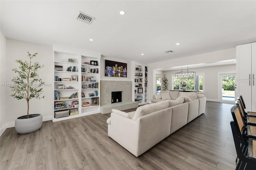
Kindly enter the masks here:
M 165 109 L 165 108 L 168 107 L 168 105 L 169 105 L 168 101 L 160 101 L 158 103 L 153 103 L 153 104 L 140 106 L 136 109 L 136 112 L 135 112 L 134 117 L 132 119 L 137 120 L 138 117 L 141 117 L 141 116 L 147 115 L 149 113 L 153 113 L 153 112 Z

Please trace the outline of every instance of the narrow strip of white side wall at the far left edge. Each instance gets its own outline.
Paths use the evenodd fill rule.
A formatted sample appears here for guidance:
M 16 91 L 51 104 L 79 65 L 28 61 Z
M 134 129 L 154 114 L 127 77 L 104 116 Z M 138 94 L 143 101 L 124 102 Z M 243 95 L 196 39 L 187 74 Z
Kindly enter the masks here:
M 6 83 L 6 38 L 0 32 L 0 135 L 4 132 L 4 120 L 6 117 L 6 105 L 5 105 L 5 98 L 6 98 L 6 91 L 4 87 L 4 83 Z

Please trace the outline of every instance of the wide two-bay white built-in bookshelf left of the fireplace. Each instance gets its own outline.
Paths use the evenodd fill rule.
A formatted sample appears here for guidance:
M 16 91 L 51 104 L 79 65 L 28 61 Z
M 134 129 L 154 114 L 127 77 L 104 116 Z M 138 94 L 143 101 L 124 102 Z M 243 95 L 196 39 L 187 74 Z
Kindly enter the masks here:
M 53 50 L 54 107 L 52 121 L 99 113 L 100 54 L 91 56 L 86 52 L 58 46 L 53 46 Z

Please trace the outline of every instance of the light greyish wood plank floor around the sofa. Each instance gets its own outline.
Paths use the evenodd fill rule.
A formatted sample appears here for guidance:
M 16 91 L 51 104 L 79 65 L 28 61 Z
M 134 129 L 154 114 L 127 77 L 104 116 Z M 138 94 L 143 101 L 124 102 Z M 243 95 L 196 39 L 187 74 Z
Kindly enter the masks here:
M 138 158 L 108 137 L 110 114 L 46 121 L 40 130 L 23 135 L 8 128 L 0 137 L 0 169 L 234 170 L 232 106 L 207 102 L 205 114 Z

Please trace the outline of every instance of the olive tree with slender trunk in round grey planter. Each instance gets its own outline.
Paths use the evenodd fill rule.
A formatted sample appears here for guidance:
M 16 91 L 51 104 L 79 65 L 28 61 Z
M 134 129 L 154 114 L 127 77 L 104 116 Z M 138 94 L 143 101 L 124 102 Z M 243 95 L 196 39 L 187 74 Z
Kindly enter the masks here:
M 44 98 L 42 96 L 44 82 L 37 73 L 38 69 L 44 67 L 44 65 L 40 65 L 38 62 L 31 62 L 31 59 L 36 57 L 37 54 L 28 52 L 29 61 L 17 59 L 16 62 L 19 63 L 19 67 L 12 69 L 18 76 L 12 78 L 13 86 L 11 86 L 11 89 L 14 93 L 11 96 L 18 100 L 26 99 L 27 101 L 27 115 L 18 117 L 15 120 L 15 130 L 19 134 L 34 132 L 42 126 L 42 115 L 29 114 L 30 99 Z

